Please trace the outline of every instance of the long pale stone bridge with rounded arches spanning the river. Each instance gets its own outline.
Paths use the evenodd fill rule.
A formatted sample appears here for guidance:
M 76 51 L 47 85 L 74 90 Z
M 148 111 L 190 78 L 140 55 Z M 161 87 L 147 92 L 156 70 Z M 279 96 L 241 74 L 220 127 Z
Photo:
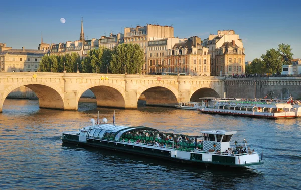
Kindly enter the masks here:
M 77 110 L 81 95 L 90 89 L 97 106 L 137 108 L 139 98 L 147 105 L 171 106 L 199 97 L 222 97 L 224 78 L 211 76 L 160 76 L 91 73 L 0 73 L 0 113 L 10 92 L 21 86 L 33 90 L 40 108 Z

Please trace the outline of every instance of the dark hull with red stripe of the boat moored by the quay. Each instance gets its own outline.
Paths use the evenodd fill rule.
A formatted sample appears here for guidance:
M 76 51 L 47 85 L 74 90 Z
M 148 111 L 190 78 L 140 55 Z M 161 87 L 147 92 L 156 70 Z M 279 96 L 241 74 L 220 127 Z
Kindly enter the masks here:
M 252 117 L 252 118 L 267 118 L 267 119 L 293 119 L 296 118 L 296 116 L 264 116 L 264 115 L 256 115 L 252 113 L 229 113 L 229 112 L 223 112 L 223 111 L 209 111 L 209 110 L 199 110 L 201 113 L 205 114 L 219 114 L 219 115 L 231 115 L 231 116 L 243 116 L 243 117 Z

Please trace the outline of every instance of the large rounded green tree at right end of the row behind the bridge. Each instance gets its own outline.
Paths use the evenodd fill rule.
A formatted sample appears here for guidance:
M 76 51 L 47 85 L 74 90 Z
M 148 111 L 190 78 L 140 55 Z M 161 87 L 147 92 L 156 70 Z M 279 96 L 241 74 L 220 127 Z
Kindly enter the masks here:
M 125 66 L 128 74 L 140 73 L 144 62 L 144 51 L 138 44 L 119 44 L 114 47 L 110 62 L 110 71 L 124 74 Z

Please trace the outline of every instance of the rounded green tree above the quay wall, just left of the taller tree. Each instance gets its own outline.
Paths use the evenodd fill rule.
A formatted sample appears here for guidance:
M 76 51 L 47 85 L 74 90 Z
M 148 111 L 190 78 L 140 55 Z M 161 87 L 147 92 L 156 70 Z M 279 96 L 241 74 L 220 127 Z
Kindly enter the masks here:
M 263 60 L 263 68 L 269 73 L 280 73 L 282 70 L 281 54 L 275 49 L 266 50 L 266 54 L 261 56 Z

